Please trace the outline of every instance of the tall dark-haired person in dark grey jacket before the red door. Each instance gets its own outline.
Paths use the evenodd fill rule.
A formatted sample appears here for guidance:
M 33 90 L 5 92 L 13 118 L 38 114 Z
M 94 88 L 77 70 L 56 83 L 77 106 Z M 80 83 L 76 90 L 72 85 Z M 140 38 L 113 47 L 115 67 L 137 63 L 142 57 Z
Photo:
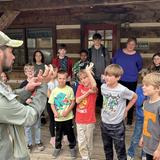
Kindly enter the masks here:
M 94 76 L 98 88 L 98 97 L 96 105 L 102 107 L 101 84 L 102 76 L 106 66 L 110 64 L 110 55 L 107 49 L 101 44 L 102 36 L 99 33 L 93 35 L 93 46 L 88 49 L 89 60 L 94 63 Z

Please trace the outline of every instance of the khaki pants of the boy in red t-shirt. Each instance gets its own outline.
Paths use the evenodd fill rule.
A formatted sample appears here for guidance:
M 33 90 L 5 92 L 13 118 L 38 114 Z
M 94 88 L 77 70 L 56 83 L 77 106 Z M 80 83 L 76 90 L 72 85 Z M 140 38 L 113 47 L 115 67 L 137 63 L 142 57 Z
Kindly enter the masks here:
M 95 124 L 78 124 L 77 123 L 77 139 L 79 152 L 82 159 L 90 159 L 93 150 L 93 130 Z

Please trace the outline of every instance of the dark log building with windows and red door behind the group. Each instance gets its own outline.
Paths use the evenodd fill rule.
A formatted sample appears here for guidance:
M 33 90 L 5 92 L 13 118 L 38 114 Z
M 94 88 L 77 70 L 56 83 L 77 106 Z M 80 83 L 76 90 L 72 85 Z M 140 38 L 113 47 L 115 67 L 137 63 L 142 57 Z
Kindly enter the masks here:
M 95 32 L 101 33 L 111 55 L 128 37 L 137 37 L 146 67 L 159 51 L 159 12 L 159 0 L 1 0 L 0 29 L 24 40 L 15 49 L 15 70 L 22 70 L 36 49 L 50 63 L 60 43 L 76 61 L 80 49 L 92 45 Z

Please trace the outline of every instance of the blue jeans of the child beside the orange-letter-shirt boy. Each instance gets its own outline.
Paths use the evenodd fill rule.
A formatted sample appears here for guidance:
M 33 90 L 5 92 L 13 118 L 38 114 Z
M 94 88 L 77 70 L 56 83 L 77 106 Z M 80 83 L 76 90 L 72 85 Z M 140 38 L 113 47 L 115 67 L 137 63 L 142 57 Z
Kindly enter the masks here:
M 143 130 L 143 119 L 136 117 L 134 132 L 133 132 L 133 135 L 131 138 L 130 147 L 128 149 L 128 155 L 130 157 L 134 158 L 134 156 L 135 156 L 136 148 L 137 148 L 139 140 L 142 136 L 142 130 Z M 145 153 L 142 150 L 141 156 L 144 156 L 144 155 L 145 155 Z

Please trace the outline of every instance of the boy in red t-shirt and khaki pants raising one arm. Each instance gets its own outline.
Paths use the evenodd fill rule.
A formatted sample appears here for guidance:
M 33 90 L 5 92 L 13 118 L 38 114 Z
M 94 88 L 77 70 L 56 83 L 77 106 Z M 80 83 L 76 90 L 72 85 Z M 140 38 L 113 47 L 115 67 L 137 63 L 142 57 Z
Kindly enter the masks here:
M 97 98 L 96 81 L 92 76 L 91 63 L 78 75 L 80 84 L 76 93 L 76 126 L 79 152 L 83 160 L 89 160 L 93 150 L 93 131 L 96 123 L 95 106 Z

